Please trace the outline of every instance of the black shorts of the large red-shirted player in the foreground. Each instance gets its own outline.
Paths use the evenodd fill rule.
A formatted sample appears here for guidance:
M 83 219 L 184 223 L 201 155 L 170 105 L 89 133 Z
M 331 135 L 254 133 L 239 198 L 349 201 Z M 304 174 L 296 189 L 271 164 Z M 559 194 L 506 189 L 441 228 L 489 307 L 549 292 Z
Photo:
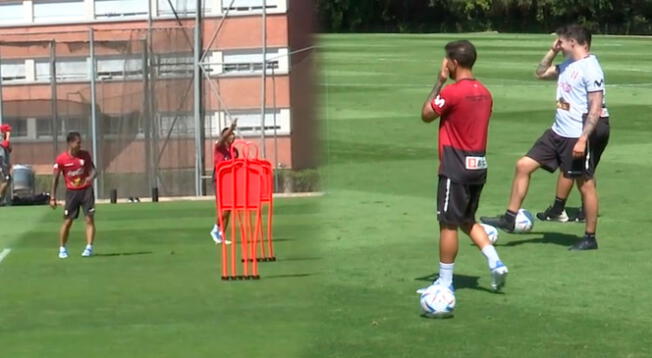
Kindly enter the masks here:
M 440 175 L 437 188 L 437 220 L 456 226 L 474 223 L 483 187 L 484 184 L 456 183 Z

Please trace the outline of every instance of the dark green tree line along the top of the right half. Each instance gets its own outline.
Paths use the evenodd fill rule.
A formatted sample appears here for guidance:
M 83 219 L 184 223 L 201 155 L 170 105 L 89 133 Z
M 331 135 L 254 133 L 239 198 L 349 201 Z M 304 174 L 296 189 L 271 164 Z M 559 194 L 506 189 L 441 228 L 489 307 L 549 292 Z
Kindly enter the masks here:
M 317 0 L 322 32 L 551 32 L 652 34 L 652 0 Z

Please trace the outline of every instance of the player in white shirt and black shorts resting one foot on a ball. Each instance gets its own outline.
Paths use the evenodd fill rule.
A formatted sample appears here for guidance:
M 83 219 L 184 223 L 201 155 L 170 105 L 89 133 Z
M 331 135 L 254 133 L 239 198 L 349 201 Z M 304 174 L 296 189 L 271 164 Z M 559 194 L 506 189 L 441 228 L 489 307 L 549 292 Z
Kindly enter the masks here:
M 605 107 L 604 76 L 596 57 L 589 52 L 591 33 L 586 28 L 564 26 L 557 30 L 557 36 L 537 69 L 539 78 L 557 78 L 555 121 L 552 128 L 545 131 L 530 151 L 516 162 L 505 214 L 481 217 L 480 221 L 508 232 L 514 231 L 516 213 L 525 199 L 532 173 L 539 168 L 549 172 L 560 168 L 562 175 L 571 181 L 571 186 L 573 181 L 577 183 L 586 215 L 584 238 L 570 249 L 597 249 L 598 197 L 593 179 L 595 153 L 589 138 Z M 552 61 L 559 52 L 563 52 L 567 60 L 553 66 Z

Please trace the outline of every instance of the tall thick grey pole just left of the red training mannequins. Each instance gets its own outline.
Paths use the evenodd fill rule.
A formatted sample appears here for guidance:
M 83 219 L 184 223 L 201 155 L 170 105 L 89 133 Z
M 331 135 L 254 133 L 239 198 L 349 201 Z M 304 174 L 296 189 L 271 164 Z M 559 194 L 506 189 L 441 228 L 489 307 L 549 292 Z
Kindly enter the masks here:
M 201 43 L 201 0 L 197 0 L 195 9 L 195 49 L 194 49 L 194 117 L 195 117 L 195 195 L 204 195 L 202 190 L 202 175 L 204 174 L 204 136 L 203 116 L 201 110 L 201 67 L 199 65 L 202 55 Z

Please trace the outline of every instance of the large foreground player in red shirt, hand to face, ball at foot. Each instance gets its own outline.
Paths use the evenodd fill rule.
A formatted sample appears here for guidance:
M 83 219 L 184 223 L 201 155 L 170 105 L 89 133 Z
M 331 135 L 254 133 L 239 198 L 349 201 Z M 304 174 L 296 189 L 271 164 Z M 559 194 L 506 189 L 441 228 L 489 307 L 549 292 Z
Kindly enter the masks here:
M 473 44 L 467 40 L 449 42 L 445 52 L 439 79 L 421 112 L 421 119 L 426 123 L 441 117 L 437 192 L 439 278 L 433 285 L 453 290 L 453 266 L 459 247 L 457 229 L 460 228 L 486 256 L 491 287 L 498 291 L 505 284 L 507 267 L 475 220 L 487 177 L 485 152 L 493 100 L 485 86 L 473 77 L 471 69 L 477 57 Z M 449 76 L 455 83 L 442 90 Z

